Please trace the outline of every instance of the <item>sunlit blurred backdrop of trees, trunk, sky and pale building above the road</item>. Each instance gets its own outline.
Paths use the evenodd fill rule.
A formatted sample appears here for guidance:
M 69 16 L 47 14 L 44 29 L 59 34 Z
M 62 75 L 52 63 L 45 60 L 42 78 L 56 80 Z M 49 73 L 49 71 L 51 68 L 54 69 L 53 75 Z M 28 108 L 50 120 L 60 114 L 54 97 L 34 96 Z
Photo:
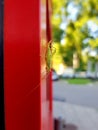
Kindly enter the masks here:
M 98 1 L 53 0 L 53 69 L 98 77 Z

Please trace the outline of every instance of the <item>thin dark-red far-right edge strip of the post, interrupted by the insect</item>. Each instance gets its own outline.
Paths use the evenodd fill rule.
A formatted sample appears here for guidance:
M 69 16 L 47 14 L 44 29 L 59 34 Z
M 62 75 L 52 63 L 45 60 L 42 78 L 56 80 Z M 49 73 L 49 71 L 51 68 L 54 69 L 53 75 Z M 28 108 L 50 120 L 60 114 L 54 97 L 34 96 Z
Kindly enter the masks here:
M 51 26 L 51 16 L 52 16 L 52 1 L 47 0 L 46 7 L 47 7 L 47 39 L 50 41 L 52 39 L 52 26 Z M 48 95 L 49 95 L 49 118 L 50 118 L 50 130 L 53 129 L 53 113 L 52 113 L 52 80 L 51 80 L 52 73 L 50 72 L 49 77 L 47 78 L 47 86 L 48 86 Z

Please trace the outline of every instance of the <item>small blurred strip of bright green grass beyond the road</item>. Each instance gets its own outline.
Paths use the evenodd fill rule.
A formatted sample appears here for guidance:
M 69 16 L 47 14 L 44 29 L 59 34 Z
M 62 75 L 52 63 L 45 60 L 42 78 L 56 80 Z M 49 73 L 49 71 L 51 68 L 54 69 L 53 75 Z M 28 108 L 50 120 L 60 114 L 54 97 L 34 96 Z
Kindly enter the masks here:
M 75 79 L 67 79 L 69 84 L 88 84 L 91 83 L 90 79 L 82 79 L 82 78 L 75 78 Z

